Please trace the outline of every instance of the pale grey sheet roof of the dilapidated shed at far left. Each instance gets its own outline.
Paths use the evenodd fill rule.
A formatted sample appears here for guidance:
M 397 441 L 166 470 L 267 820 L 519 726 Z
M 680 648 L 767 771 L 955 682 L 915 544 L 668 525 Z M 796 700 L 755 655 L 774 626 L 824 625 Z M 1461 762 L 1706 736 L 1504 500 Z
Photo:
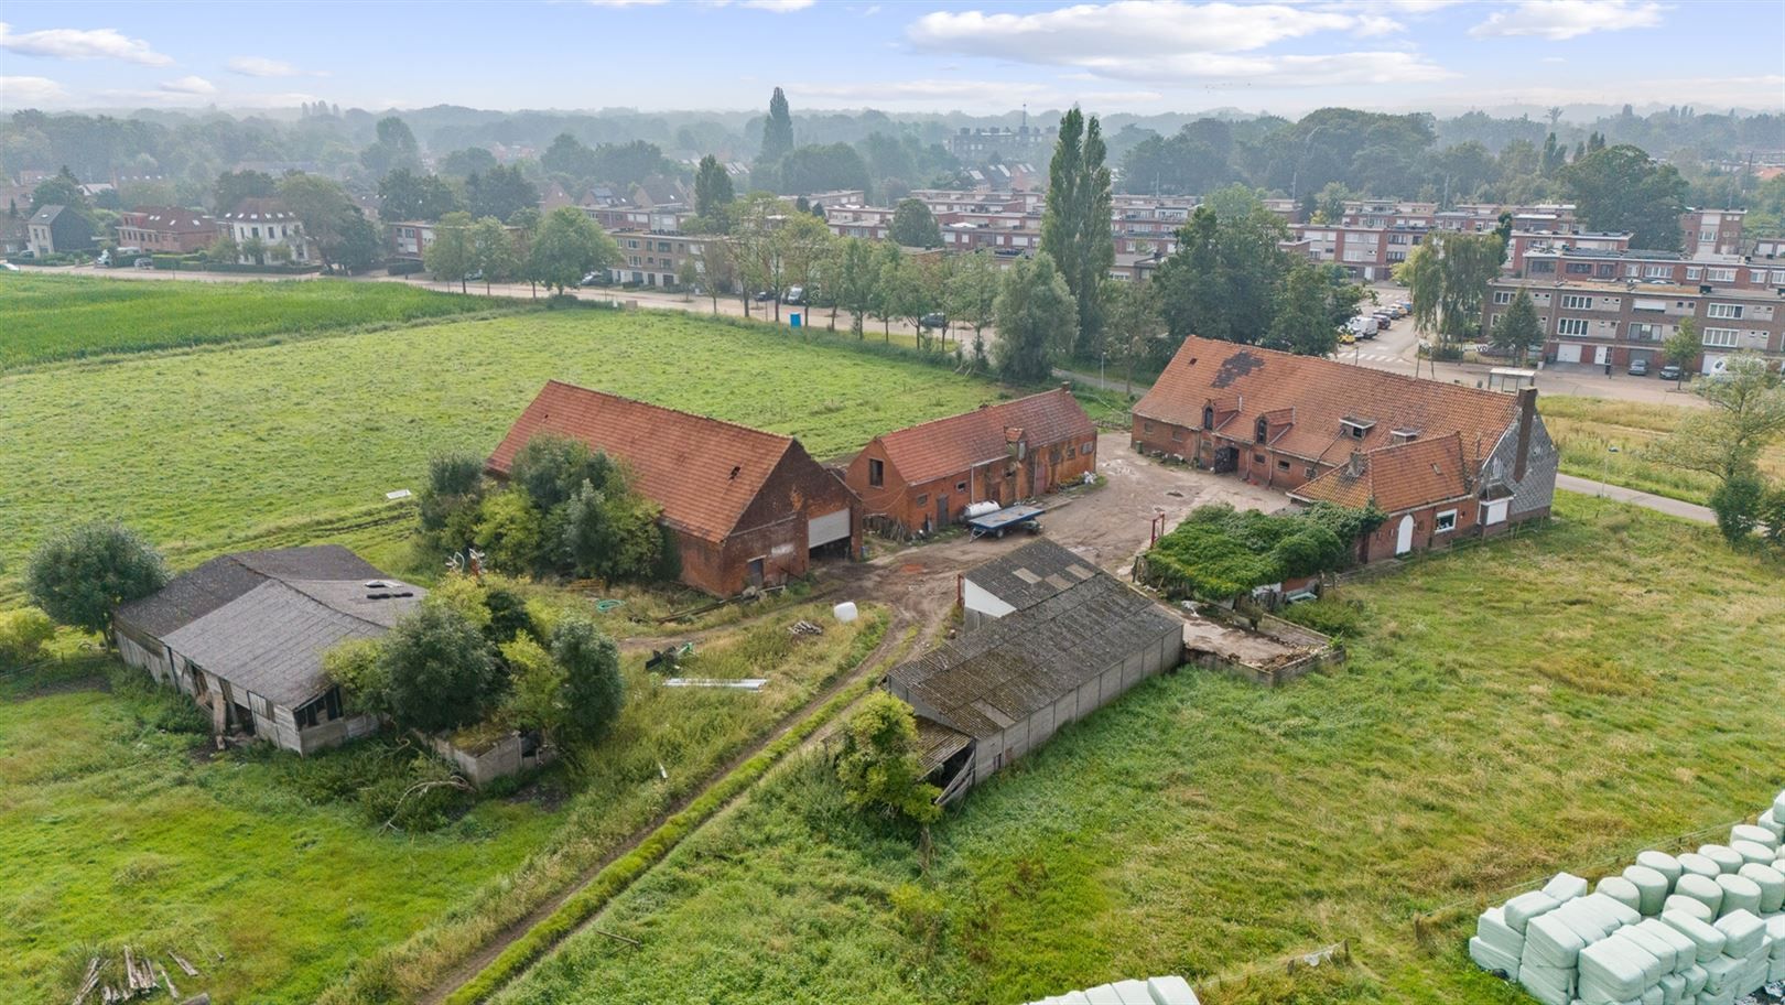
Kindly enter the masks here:
M 328 648 L 384 635 L 425 594 L 339 544 L 273 548 L 211 559 L 120 607 L 118 621 L 232 687 L 296 709 L 328 689 Z

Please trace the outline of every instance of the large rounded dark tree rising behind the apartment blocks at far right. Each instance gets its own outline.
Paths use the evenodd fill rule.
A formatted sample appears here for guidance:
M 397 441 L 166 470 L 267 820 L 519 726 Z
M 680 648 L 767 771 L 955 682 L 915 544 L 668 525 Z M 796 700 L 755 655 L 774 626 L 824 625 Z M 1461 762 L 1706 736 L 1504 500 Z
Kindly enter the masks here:
M 1560 179 L 1587 227 L 1628 230 L 1631 248 L 1680 250 L 1687 182 L 1673 164 L 1658 164 L 1637 146 L 1605 146 L 1569 164 Z

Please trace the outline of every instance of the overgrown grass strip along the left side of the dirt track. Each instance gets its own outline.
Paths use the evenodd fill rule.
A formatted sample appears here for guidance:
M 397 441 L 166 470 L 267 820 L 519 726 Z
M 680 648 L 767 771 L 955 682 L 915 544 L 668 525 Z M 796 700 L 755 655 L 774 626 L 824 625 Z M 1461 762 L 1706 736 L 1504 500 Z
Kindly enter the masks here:
M 643 669 L 644 655 L 628 657 L 625 666 L 630 700 L 621 725 L 587 759 L 580 794 L 557 834 L 519 868 L 486 884 L 412 937 L 364 959 L 320 1001 L 409 1001 L 434 987 L 453 966 L 600 864 L 666 807 L 698 789 L 771 723 L 839 675 L 860 666 L 885 632 L 885 612 L 869 607 L 851 625 L 823 618 L 826 630 L 818 639 L 794 641 L 789 635 L 787 625 L 801 618 L 818 621 L 819 614 L 816 607 L 796 607 L 703 650 L 702 675 L 769 677 L 769 685 L 755 694 L 657 687 Z M 668 778 L 659 766 L 668 769 Z M 691 805 L 684 814 L 703 818 L 710 812 L 702 812 L 700 805 L 705 803 Z M 684 818 L 682 826 L 694 818 Z M 603 869 L 607 878 L 591 889 L 605 889 L 618 875 L 612 869 L 641 851 L 610 864 Z M 587 903 L 591 896 L 596 894 L 585 891 L 573 903 Z M 564 907 L 555 918 L 569 918 L 564 910 L 577 909 Z

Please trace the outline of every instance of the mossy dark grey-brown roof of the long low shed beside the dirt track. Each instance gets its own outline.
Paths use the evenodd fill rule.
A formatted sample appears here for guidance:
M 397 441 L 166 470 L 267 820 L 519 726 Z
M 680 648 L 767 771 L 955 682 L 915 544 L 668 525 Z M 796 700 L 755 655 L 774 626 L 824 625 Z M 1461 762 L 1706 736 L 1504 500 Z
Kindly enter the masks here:
M 1098 573 L 1026 610 L 892 669 L 942 725 L 992 737 L 1080 687 L 1112 660 L 1180 635 L 1183 621 Z

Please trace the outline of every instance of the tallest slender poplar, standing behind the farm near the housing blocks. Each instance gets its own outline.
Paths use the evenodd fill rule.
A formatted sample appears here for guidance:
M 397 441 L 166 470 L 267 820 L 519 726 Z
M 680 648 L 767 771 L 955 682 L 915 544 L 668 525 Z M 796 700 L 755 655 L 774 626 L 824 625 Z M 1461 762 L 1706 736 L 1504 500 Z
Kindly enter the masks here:
M 1096 352 L 1101 330 L 1098 291 L 1116 264 L 1110 236 L 1110 170 L 1105 159 L 1103 129 L 1098 116 L 1089 120 L 1073 105 L 1060 118 L 1060 136 L 1048 166 L 1048 205 L 1041 214 L 1041 250 L 1057 262 L 1066 287 L 1076 300 L 1076 343 L 1080 353 Z

